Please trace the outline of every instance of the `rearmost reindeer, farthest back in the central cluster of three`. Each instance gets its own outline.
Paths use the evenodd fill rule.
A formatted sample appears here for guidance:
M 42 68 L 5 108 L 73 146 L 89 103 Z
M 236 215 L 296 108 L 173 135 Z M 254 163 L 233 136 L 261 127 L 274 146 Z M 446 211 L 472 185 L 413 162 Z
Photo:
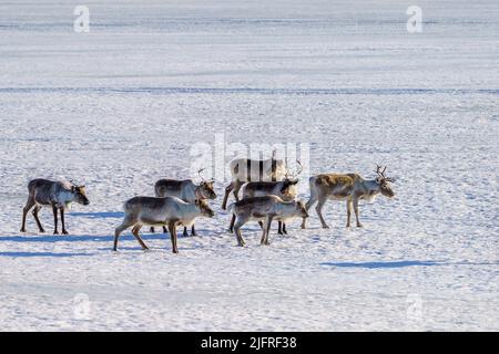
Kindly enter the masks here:
M 241 187 L 252 180 L 282 180 L 286 175 L 284 160 L 275 159 L 275 150 L 272 158 L 249 159 L 237 158 L 231 162 L 231 184 L 225 188 L 225 196 L 222 202 L 222 209 L 227 207 L 228 194 L 233 191 L 236 201 L 240 200 L 238 192 Z

